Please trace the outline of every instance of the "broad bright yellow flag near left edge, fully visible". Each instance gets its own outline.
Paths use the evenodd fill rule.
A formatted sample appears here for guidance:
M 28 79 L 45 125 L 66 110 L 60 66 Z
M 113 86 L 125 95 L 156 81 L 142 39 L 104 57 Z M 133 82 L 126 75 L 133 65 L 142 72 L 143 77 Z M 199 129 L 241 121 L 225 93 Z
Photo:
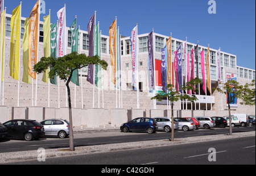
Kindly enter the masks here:
M 10 76 L 19 79 L 20 5 L 11 16 Z

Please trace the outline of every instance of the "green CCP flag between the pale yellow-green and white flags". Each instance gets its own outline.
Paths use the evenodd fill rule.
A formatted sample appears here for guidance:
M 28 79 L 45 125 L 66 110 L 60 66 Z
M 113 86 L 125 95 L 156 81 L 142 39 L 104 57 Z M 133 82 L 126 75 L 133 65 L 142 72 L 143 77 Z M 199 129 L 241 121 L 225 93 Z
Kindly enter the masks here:
M 51 24 L 51 57 L 57 57 L 57 23 Z M 51 70 L 52 68 L 50 68 Z M 56 74 L 53 78 L 50 78 L 50 82 L 53 85 L 57 85 L 57 77 Z

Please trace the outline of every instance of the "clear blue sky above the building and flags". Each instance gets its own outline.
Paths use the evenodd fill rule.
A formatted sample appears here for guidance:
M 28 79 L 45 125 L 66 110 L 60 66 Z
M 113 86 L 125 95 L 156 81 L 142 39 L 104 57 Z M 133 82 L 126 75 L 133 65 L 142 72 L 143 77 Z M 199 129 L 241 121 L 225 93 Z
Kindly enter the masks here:
M 211 0 L 213 1 L 213 0 Z M 209 14 L 213 3 L 209 0 L 44 0 L 46 14 L 51 9 L 51 23 L 57 20 L 57 11 L 66 4 L 67 26 L 77 15 L 77 24 L 87 31 L 90 16 L 97 11 L 103 35 L 117 16 L 122 36 L 130 36 L 138 23 L 138 33 L 154 32 L 180 40 L 237 55 L 237 65 L 255 69 L 255 0 L 215 0 L 216 13 Z M 36 0 L 22 1 L 22 16 L 28 17 Z M 208 5 L 209 3 L 209 5 Z M 7 13 L 20 4 L 20 0 L 5 0 Z

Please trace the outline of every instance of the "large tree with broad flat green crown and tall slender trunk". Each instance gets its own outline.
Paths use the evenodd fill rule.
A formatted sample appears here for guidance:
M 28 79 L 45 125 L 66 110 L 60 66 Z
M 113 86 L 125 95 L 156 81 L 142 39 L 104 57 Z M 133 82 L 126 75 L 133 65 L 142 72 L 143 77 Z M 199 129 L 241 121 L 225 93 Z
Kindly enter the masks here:
M 103 69 L 108 68 L 108 63 L 104 60 L 100 60 L 98 56 L 86 56 L 85 54 L 78 55 L 77 52 L 72 52 L 63 57 L 42 57 L 38 64 L 35 64 L 34 70 L 36 73 L 43 73 L 44 70 L 51 67 L 49 71 L 49 78 L 53 78 L 55 75 L 59 76 L 60 79 L 65 81 L 68 91 L 68 108 L 69 108 L 69 150 L 74 151 L 73 141 L 73 124 L 72 124 L 72 109 L 71 109 L 71 95 L 69 89 L 69 82 L 73 72 L 76 69 L 84 68 L 89 64 L 100 64 Z

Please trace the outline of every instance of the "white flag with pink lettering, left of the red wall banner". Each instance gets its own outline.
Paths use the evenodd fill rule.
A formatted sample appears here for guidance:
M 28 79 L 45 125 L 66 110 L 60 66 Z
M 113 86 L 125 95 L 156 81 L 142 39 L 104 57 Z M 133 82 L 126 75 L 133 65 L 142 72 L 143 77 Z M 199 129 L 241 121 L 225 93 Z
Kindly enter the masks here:
M 137 37 L 138 37 L 138 26 L 135 26 L 131 31 L 131 70 L 132 70 L 132 81 L 131 86 L 134 90 L 137 90 L 137 78 L 138 78 L 138 56 L 137 56 Z

